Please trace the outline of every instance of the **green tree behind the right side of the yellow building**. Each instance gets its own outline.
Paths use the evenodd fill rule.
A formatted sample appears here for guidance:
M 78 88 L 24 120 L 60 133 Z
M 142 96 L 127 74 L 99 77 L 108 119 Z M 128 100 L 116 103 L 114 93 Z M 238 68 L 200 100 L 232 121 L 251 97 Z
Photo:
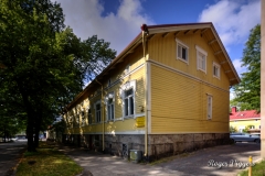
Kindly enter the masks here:
M 242 81 L 234 87 L 235 101 L 247 109 L 261 111 L 261 25 L 251 30 L 243 51 L 242 66 L 247 73 L 242 74 Z

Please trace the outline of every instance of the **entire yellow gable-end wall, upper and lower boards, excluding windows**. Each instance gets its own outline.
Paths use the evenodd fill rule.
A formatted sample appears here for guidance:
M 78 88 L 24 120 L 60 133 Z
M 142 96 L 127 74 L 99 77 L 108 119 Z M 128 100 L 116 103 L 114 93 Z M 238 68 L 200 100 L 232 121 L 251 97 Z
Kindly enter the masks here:
M 219 63 L 200 34 L 178 35 L 189 47 L 189 64 L 177 59 L 174 35 L 148 42 L 151 59 L 151 133 L 229 132 L 229 78 L 213 77 Z M 208 53 L 206 74 L 197 69 L 197 50 Z M 152 62 L 155 61 L 155 62 Z M 206 94 L 213 96 L 212 120 L 206 118 Z

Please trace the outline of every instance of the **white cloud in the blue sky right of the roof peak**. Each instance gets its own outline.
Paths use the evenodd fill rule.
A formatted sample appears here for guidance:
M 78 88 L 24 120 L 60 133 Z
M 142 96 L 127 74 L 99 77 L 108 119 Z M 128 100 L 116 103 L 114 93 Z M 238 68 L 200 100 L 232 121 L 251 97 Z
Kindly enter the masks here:
M 212 22 L 225 46 L 242 43 L 246 41 L 250 30 L 261 23 L 261 1 L 222 0 L 208 6 L 199 21 Z

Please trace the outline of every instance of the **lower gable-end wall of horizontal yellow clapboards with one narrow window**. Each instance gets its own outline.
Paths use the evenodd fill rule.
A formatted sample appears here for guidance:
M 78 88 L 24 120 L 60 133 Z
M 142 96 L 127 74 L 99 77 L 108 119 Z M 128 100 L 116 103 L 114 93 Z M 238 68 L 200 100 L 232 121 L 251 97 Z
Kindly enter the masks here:
M 229 91 L 151 66 L 151 132 L 227 132 Z M 206 94 L 213 96 L 206 119 Z

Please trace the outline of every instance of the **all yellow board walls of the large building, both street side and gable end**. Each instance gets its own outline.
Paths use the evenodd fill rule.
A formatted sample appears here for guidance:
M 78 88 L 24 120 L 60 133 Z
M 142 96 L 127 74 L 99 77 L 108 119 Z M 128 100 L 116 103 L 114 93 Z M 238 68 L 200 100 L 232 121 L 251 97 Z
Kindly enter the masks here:
M 211 47 L 200 33 L 177 35 L 177 38 L 189 46 L 189 64 L 177 59 L 177 42 L 173 33 L 157 34 L 147 43 L 150 58 L 151 82 L 151 133 L 195 133 L 195 132 L 229 132 L 230 81 L 222 65 L 214 56 Z M 200 46 L 208 53 L 206 74 L 197 69 L 197 50 Z M 221 78 L 213 77 L 213 62 L 221 66 Z M 126 66 L 130 65 L 130 74 L 125 74 Z M 135 127 L 135 119 L 123 119 L 123 101 L 119 95 L 120 87 L 128 80 L 136 80 L 136 114 L 145 116 L 141 106 L 145 106 L 145 61 L 141 45 L 127 55 L 124 62 L 108 73 L 104 80 L 104 98 L 115 92 L 115 121 L 105 122 L 105 132 L 131 132 L 145 130 Z M 115 85 L 107 87 L 107 80 Z M 99 91 L 98 91 L 99 90 Z M 206 119 L 206 94 L 213 96 L 212 119 Z M 70 133 L 100 133 L 103 123 L 95 123 L 94 103 L 100 100 L 100 87 L 91 90 L 89 100 L 84 108 L 91 106 L 93 123 L 81 127 L 70 127 Z M 87 112 L 87 110 L 85 111 Z M 71 114 L 73 116 L 73 113 Z M 106 120 L 106 109 L 104 106 Z M 81 121 L 81 116 L 77 116 Z

